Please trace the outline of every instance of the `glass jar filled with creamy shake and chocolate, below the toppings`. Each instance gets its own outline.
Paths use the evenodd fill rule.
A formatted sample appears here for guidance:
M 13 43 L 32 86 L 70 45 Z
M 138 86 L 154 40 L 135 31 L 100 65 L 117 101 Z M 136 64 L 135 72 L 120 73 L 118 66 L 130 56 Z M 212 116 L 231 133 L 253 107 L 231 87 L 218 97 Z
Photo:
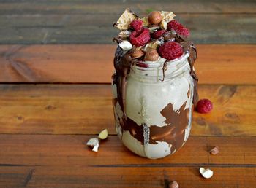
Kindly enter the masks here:
M 188 57 L 186 52 L 168 62 L 145 62 L 147 67 L 135 63 L 127 76 L 124 110 L 112 83 L 116 132 L 135 154 L 157 159 L 187 141 L 194 93 Z

